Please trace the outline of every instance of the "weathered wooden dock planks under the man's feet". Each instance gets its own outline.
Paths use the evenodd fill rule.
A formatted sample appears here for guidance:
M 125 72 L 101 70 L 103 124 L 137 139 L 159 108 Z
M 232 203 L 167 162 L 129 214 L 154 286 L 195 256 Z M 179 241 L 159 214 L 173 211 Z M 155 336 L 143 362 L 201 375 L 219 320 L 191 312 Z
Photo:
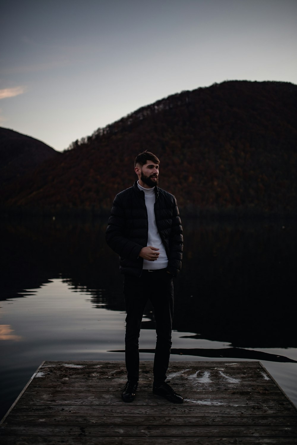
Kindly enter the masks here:
M 46 361 L 1 421 L 2 445 L 297 444 L 297 409 L 255 361 L 171 362 L 185 401 L 154 396 L 152 362 L 140 363 L 124 403 L 122 361 Z

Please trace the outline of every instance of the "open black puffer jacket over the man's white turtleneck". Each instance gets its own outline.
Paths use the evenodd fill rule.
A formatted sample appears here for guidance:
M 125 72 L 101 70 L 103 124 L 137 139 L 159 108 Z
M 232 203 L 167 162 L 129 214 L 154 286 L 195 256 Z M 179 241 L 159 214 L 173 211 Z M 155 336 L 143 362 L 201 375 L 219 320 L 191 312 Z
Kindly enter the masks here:
M 155 187 L 155 219 L 164 244 L 167 270 L 176 276 L 181 269 L 183 251 L 183 229 L 175 197 Z M 137 181 L 133 187 L 123 190 L 114 198 L 114 205 L 106 229 L 106 242 L 120 255 L 122 274 L 140 276 L 143 259 L 138 257 L 147 245 L 147 211 L 144 192 Z

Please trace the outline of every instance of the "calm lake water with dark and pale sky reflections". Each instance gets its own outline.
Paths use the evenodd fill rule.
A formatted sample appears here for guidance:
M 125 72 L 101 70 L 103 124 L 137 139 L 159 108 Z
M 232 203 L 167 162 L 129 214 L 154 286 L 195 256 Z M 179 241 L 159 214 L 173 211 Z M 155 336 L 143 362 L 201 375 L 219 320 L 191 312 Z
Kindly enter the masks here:
M 105 220 L 1 223 L 1 412 L 43 360 L 124 360 L 125 307 Z M 171 360 L 257 360 L 297 405 L 296 222 L 183 218 Z M 141 360 L 153 360 L 146 307 Z

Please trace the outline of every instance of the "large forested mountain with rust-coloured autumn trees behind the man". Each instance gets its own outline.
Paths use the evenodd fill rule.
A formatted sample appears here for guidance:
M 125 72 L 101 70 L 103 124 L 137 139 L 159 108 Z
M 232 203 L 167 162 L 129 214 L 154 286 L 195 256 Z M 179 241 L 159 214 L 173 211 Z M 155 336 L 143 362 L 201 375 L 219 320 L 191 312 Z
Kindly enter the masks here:
M 296 214 L 297 85 L 226 81 L 183 91 L 87 138 L 7 187 L 24 211 L 106 214 L 134 158 L 161 160 L 159 186 L 184 214 Z

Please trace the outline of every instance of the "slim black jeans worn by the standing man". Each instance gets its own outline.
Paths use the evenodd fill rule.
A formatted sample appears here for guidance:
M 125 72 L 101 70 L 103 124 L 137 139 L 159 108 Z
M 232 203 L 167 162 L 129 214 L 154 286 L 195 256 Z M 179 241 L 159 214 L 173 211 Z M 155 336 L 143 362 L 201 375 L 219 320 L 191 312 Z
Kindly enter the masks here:
M 127 312 L 125 358 L 128 380 L 139 380 L 138 339 L 143 311 L 149 299 L 154 307 L 157 334 L 154 382 L 162 384 L 166 380 L 172 344 L 174 303 L 172 276 L 165 269 L 154 272 L 142 271 L 140 278 L 125 275 L 124 296 Z

